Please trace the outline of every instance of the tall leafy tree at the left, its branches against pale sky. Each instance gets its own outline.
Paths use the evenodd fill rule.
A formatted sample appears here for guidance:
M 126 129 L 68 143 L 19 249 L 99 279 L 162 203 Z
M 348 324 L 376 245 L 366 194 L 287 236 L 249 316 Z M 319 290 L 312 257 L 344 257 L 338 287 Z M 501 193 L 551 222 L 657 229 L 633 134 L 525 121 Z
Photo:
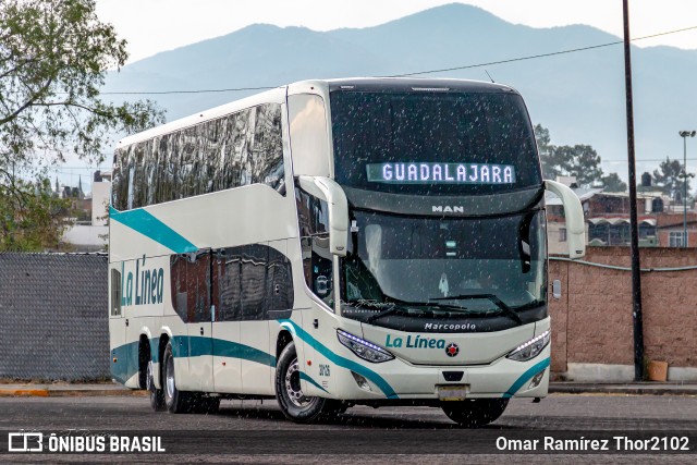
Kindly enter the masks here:
M 163 121 L 149 100 L 100 98 L 107 71 L 126 59 L 125 40 L 98 20 L 94 0 L 0 2 L 0 201 L 12 199 L 14 210 L 0 207 L 14 211 L 14 224 L 37 218 L 32 208 L 53 208 L 49 197 L 35 195 L 45 184 L 41 168 L 66 154 L 101 161 L 113 135 Z M 19 182 L 15 169 L 36 181 Z

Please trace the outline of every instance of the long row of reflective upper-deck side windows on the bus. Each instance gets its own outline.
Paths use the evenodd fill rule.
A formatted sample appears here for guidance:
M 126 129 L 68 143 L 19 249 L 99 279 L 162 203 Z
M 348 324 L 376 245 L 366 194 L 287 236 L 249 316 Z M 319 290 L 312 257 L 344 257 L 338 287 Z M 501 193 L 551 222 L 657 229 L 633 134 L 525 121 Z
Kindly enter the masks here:
M 112 205 L 130 210 L 249 184 L 284 192 L 281 106 L 265 103 L 119 148 Z

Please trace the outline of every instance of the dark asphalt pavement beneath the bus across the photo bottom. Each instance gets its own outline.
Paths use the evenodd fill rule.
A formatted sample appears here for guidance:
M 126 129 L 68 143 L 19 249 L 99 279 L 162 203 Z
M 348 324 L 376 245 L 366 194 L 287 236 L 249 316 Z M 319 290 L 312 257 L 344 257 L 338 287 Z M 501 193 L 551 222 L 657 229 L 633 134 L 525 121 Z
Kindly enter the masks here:
M 513 399 L 498 420 L 477 430 L 462 429 L 430 407 L 355 406 L 335 419 L 297 425 L 273 401 L 225 401 L 216 415 L 171 415 L 152 412 L 144 396 L 5 397 L 0 412 L 1 463 L 634 465 L 693 464 L 697 451 L 697 403 L 684 395 L 554 393 L 540 403 Z M 45 453 L 10 453 L 22 449 L 22 441 L 14 441 L 12 451 L 9 445 L 10 436 L 21 431 L 25 436 L 20 439 L 38 437 L 32 444 L 42 444 Z M 107 452 L 120 453 L 72 445 L 76 438 L 96 437 L 107 438 Z M 123 449 L 124 440 L 127 446 L 136 438 L 159 438 L 162 452 Z M 530 443 L 538 448 L 527 448 Z M 594 443 L 603 449 L 586 446 Z M 657 449 L 647 449 L 651 444 Z

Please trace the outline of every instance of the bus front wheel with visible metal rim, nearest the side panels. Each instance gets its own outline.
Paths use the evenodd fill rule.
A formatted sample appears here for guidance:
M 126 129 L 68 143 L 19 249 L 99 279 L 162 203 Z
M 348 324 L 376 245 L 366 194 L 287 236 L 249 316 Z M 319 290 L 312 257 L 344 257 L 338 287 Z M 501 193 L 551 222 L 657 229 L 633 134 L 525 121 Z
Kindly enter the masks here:
M 295 423 L 311 423 L 335 412 L 335 401 L 308 397 L 301 390 L 299 366 L 295 343 L 283 348 L 276 366 L 276 397 L 283 415 Z

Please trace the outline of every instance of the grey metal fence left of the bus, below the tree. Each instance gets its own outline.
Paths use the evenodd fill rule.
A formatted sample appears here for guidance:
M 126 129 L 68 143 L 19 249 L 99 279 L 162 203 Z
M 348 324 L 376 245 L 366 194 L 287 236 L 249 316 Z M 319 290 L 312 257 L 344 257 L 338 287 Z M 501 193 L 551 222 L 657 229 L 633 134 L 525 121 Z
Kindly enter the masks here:
M 109 377 L 107 256 L 0 254 L 0 378 Z

